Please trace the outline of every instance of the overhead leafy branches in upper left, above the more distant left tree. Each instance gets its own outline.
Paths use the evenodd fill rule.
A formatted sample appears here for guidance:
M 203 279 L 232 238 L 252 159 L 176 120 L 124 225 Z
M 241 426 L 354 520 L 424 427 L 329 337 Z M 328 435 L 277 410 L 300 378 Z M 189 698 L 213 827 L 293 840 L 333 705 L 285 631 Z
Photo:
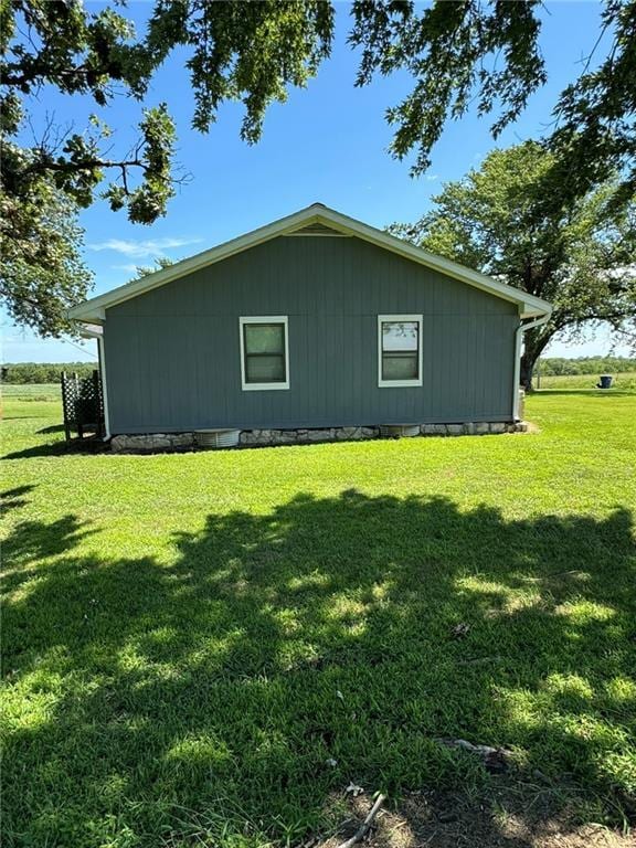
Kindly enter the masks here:
M 52 176 L 80 206 L 104 191 L 114 210 L 130 221 L 152 223 L 174 194 L 174 123 L 166 104 L 142 110 L 132 151 L 113 159 L 103 151 L 110 130 L 92 118 L 91 131 L 46 134 L 31 148 L 8 141 L 29 117 L 26 103 L 45 85 L 91 96 L 99 108 L 115 94 L 142 100 L 153 73 L 177 47 L 190 50 L 195 109 L 193 126 L 206 131 L 224 99 L 243 99 L 242 136 L 259 137 L 273 99 L 288 85 L 304 85 L 328 55 L 332 10 L 324 3 L 208 3 L 158 0 L 144 39 L 118 12 L 87 11 L 80 2 L 13 0 L 0 21 L 2 43 L 2 134 L 9 151 L 3 190 L 20 194 Z M 138 174 L 137 179 L 134 174 Z

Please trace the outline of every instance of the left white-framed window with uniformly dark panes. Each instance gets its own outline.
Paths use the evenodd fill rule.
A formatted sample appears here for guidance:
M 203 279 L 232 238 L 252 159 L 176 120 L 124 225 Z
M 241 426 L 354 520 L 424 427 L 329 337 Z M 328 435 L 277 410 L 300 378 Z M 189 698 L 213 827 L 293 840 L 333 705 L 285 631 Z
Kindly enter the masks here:
M 240 318 L 244 391 L 289 389 L 287 316 Z

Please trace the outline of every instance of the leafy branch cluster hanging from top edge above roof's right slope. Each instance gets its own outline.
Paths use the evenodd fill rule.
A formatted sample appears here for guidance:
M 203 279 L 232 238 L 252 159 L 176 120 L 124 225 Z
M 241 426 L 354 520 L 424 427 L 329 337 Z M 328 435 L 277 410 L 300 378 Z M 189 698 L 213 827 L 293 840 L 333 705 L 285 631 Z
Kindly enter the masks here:
M 362 47 L 358 85 L 374 73 L 407 71 L 414 87 L 386 117 L 398 127 L 391 152 L 403 159 L 415 150 L 413 174 L 431 163 L 431 150 L 448 118 L 459 118 L 476 99 L 480 115 L 497 103 L 502 112 L 495 136 L 526 106 L 528 96 L 545 82 L 537 45 L 539 3 L 478 0 L 438 2 L 420 14 L 412 3 L 353 3 L 350 42 Z M 502 68 L 492 62 L 501 53 Z

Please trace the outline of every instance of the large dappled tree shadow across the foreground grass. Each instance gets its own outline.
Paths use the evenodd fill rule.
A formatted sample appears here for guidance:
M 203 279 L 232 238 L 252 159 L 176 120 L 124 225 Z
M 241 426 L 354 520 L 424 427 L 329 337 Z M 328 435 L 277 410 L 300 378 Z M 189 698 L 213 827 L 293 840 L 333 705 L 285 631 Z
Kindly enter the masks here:
M 30 522 L 6 544 L 8 834 L 293 844 L 350 781 L 484 788 L 441 736 L 568 775 L 590 816 L 629 814 L 628 510 L 299 495 L 209 516 L 169 561 L 78 550 L 95 530 Z

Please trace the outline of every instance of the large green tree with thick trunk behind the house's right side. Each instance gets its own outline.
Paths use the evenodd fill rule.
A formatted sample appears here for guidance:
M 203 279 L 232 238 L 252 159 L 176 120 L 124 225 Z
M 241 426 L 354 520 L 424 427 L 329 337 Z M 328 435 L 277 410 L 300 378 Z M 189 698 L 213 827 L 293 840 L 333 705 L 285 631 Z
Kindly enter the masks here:
M 616 182 L 538 218 L 554 157 L 527 141 L 495 150 L 478 170 L 448 182 L 434 209 L 391 231 L 554 306 L 548 324 L 524 333 L 521 382 L 531 388 L 539 356 L 556 335 L 607 321 L 636 341 L 636 214 L 612 200 Z M 559 184 L 552 184 L 559 192 Z

